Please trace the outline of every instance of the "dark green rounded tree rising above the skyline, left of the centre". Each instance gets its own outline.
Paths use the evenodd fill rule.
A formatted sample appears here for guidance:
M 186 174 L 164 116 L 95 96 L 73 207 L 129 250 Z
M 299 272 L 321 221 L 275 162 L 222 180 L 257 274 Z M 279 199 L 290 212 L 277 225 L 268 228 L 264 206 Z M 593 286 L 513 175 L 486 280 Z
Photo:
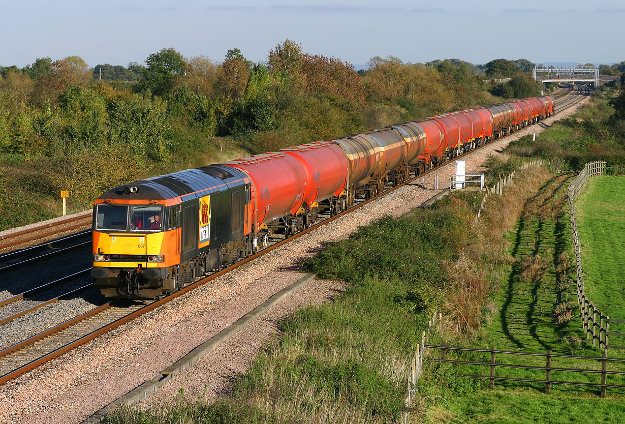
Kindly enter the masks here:
M 174 48 L 162 49 L 146 59 L 148 68 L 139 80 L 139 91 L 150 90 L 156 96 L 171 93 L 184 75 L 184 58 Z

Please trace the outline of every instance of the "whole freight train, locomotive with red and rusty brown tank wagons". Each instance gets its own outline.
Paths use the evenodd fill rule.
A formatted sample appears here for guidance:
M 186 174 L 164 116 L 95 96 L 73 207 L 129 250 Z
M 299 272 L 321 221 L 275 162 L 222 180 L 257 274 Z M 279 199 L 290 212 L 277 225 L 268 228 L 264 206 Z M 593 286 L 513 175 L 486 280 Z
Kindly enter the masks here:
M 161 298 L 553 113 L 521 99 L 118 186 L 94 203 L 91 275 L 107 298 Z

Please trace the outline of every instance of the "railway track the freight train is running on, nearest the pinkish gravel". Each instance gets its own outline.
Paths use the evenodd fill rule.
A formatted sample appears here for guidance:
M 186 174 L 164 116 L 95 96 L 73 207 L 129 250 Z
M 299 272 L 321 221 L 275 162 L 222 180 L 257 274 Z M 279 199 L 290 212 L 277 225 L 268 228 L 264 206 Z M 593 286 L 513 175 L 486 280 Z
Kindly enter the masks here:
M 578 88 L 575 89 L 575 91 L 582 92 L 583 89 Z M 569 99 L 570 97 L 575 97 L 575 99 Z M 556 103 L 557 111 L 572 107 L 583 98 L 583 96 L 567 96 L 566 94 L 558 96 L 559 100 Z M 484 144 L 484 146 L 487 146 L 487 144 Z M 466 156 L 467 154 L 470 154 L 477 149 L 473 149 L 467 153 L 461 154 L 453 160 L 462 158 L 463 156 Z M 444 166 L 445 164 L 446 163 L 442 163 L 441 166 Z M 4 350 L 0 350 L 0 383 L 9 381 L 17 375 L 21 375 L 26 371 L 32 370 L 36 366 L 39 366 L 46 361 L 56 358 L 56 356 L 59 356 L 66 351 L 69 351 L 83 343 L 86 343 L 86 341 L 93 340 L 93 338 L 95 338 L 96 336 L 106 333 L 113 328 L 122 325 L 123 323 L 133 320 L 134 318 L 136 318 L 136 316 L 153 310 L 154 308 L 157 308 L 158 306 L 161 306 L 164 303 L 167 303 L 168 301 L 171 301 L 172 299 L 181 296 L 184 293 L 187 293 L 187 291 L 193 290 L 197 286 L 206 284 L 209 281 L 214 280 L 218 276 L 223 275 L 224 273 L 230 272 L 231 270 L 234 270 L 249 261 L 255 260 L 259 256 L 264 255 L 265 253 L 268 253 L 269 251 L 272 251 L 276 248 L 279 248 L 280 246 L 288 243 L 291 240 L 294 240 L 294 238 L 303 236 L 310 231 L 316 230 L 320 226 L 325 225 L 326 223 L 334 221 L 335 219 L 347 213 L 351 213 L 351 211 L 354 211 L 355 209 L 364 206 L 364 204 L 367 204 L 381 196 L 391 193 L 391 191 L 394 191 L 395 189 L 405 184 L 414 183 L 416 182 L 417 178 L 420 179 L 422 178 L 422 176 L 436 171 L 436 169 L 437 168 L 430 169 L 426 171 L 426 173 L 422 173 L 419 174 L 419 176 L 408 179 L 403 184 L 400 184 L 398 186 L 388 186 L 388 189 L 371 199 L 359 199 L 359 201 L 354 204 L 352 208 L 349 208 L 346 211 L 339 213 L 335 216 L 327 216 L 327 218 L 325 218 L 324 220 L 317 221 L 307 230 L 296 233 L 296 235 L 291 236 L 288 239 L 285 239 L 283 236 L 272 238 L 274 244 L 268 246 L 267 248 L 264 248 L 256 255 L 239 261 L 238 263 L 227 268 L 226 270 L 221 270 L 213 273 L 212 275 L 201 278 L 200 280 L 197 280 L 187 285 L 182 290 L 177 291 L 173 295 L 168 296 L 163 300 L 144 301 L 141 304 L 134 303 L 124 307 L 113 306 L 111 305 L 111 303 L 105 303 L 94 308 L 91 311 L 88 311 L 82 315 L 76 316 L 71 320 L 62 323 L 61 325 L 54 326 L 53 328 L 43 331 L 36 336 L 32 336 L 27 340 L 23 340 L 19 343 L 16 343 L 15 345 L 5 348 Z M 123 311 L 125 312 L 122 313 Z

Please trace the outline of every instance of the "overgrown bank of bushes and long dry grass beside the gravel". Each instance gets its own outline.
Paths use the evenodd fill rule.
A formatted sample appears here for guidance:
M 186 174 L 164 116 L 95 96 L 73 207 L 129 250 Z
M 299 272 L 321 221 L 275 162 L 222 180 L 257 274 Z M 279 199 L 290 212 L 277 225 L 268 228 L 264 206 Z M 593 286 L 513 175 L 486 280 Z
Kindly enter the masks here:
M 541 181 L 526 171 L 522 206 Z M 453 334 L 475 333 L 488 293 L 507 263 L 501 235 L 516 216 L 506 209 L 492 225 L 475 225 L 482 193 L 456 193 L 430 209 L 386 218 L 326 246 L 309 261 L 321 278 L 350 283 L 329 305 L 287 320 L 284 334 L 215 403 L 181 396 L 168 408 L 129 410 L 116 422 L 396 422 L 404 413 L 409 361 L 427 318 L 447 310 Z M 467 383 L 471 386 L 469 380 Z M 412 418 L 421 416 L 418 403 Z

